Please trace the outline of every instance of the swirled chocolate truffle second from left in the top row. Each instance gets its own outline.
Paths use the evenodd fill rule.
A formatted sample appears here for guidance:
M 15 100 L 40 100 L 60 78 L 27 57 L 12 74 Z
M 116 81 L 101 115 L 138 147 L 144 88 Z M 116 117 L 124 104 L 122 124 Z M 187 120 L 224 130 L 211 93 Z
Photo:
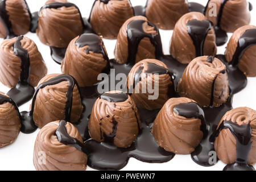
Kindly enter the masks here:
M 83 30 L 80 10 L 73 3 L 52 2 L 40 9 L 36 34 L 48 46 L 68 47 Z

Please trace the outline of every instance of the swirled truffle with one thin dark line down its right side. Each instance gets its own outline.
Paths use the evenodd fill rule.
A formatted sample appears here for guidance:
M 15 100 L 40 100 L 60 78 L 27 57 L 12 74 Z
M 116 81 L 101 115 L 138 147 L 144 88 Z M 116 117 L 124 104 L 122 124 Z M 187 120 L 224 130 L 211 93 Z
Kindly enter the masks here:
M 226 66 L 213 56 L 197 57 L 185 69 L 177 92 L 181 97 L 195 100 L 202 107 L 224 104 L 229 98 Z

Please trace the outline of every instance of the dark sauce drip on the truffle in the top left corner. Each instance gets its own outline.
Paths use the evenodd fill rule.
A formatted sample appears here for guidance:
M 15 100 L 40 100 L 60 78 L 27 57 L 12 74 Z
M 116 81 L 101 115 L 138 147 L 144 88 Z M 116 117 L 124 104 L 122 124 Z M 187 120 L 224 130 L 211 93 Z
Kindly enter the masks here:
M 6 11 L 6 0 L 0 2 L 0 20 L 3 23 L 3 26 L 5 26 L 5 30 L 7 32 L 5 39 L 14 38 L 16 35 L 13 32 L 13 26 Z

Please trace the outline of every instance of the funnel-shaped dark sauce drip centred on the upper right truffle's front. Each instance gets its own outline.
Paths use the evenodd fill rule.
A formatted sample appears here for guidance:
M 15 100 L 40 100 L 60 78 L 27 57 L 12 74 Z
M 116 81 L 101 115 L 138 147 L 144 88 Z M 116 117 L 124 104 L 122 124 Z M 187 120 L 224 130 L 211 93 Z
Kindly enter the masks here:
M 187 23 L 187 28 L 196 49 L 196 57 L 203 56 L 204 42 L 208 31 L 212 28 L 212 24 L 210 24 L 209 20 L 200 21 L 192 19 Z

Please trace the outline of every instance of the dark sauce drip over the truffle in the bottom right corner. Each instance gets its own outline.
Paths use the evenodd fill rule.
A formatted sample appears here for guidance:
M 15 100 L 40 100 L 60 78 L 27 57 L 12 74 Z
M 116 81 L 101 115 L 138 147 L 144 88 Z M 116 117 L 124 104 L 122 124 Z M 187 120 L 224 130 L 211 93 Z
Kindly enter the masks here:
M 222 121 L 220 127 L 213 134 L 216 138 L 221 130 L 229 129 L 236 138 L 236 162 L 228 164 L 224 171 L 255 171 L 253 166 L 247 164 L 249 153 L 251 150 L 251 127 L 250 122 L 241 126 L 232 121 Z

